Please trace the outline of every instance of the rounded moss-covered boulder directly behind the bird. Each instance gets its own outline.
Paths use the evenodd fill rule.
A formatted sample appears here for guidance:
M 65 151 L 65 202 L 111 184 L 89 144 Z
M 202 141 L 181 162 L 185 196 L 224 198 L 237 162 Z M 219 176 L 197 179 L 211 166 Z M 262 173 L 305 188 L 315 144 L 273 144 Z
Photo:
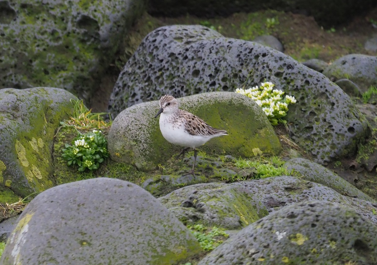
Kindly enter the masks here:
M 248 97 L 234 92 L 211 92 L 180 98 L 179 102 L 182 109 L 229 134 L 210 140 L 200 150 L 250 157 L 256 148 L 264 154 L 277 154 L 281 149 L 267 116 Z M 182 148 L 167 142 L 160 132 L 158 118 L 154 118 L 158 110 L 158 101 L 141 103 L 114 119 L 108 136 L 113 160 L 149 170 L 179 153 Z

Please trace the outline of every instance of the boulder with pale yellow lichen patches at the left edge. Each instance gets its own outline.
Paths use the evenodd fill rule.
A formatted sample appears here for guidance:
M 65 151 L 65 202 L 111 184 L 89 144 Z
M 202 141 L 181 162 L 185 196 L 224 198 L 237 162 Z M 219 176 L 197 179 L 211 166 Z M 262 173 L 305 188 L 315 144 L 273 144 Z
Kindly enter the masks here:
M 54 185 L 53 138 L 74 100 L 52 87 L 0 90 L 0 203 Z

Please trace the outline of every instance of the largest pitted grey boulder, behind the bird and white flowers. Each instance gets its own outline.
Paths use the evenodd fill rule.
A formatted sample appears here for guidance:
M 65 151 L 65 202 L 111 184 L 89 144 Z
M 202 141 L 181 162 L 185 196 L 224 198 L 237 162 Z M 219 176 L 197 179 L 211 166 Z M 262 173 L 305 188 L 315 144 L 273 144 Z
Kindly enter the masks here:
M 292 138 L 325 164 L 356 150 L 367 123 L 351 99 L 324 75 L 261 44 L 224 38 L 204 26 L 165 26 L 150 32 L 118 77 L 113 116 L 164 94 L 182 97 L 273 82 L 293 95 L 286 119 Z

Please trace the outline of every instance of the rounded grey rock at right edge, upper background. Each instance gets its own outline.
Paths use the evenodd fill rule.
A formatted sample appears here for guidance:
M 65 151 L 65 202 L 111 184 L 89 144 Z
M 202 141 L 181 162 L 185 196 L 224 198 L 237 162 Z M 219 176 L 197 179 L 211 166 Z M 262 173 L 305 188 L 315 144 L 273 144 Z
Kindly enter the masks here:
M 326 67 L 323 74 L 332 81 L 347 78 L 366 92 L 369 86 L 377 86 L 377 56 L 348 54 Z

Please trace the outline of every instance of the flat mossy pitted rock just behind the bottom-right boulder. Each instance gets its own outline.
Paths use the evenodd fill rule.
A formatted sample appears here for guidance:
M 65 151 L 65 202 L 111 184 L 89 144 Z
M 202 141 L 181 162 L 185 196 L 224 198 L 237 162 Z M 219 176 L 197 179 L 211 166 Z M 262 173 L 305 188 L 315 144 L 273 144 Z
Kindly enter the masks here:
M 293 176 L 231 184 L 195 184 L 159 198 L 184 223 L 203 223 L 228 229 L 245 227 L 268 213 L 285 212 L 289 205 L 311 200 L 343 204 L 377 225 L 377 216 L 372 212 L 377 208 L 371 202 L 350 198 L 322 184 Z

